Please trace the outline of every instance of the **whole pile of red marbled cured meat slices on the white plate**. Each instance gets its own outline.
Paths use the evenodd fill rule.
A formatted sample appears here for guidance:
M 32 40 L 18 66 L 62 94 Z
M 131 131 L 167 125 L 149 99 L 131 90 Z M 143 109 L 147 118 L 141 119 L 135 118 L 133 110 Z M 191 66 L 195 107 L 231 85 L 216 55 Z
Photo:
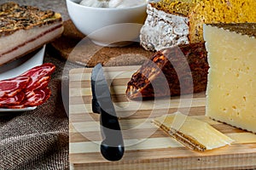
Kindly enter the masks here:
M 0 107 L 21 109 L 43 104 L 51 94 L 48 88 L 55 65 L 33 67 L 19 77 L 0 81 Z

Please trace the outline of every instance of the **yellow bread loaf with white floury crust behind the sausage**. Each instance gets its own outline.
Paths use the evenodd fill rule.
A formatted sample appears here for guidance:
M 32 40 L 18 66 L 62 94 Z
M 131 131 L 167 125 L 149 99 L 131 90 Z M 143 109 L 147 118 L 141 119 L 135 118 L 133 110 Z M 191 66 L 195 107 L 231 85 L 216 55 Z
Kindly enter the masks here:
M 147 50 L 203 42 L 204 23 L 256 22 L 255 0 L 160 0 L 148 3 L 140 40 Z

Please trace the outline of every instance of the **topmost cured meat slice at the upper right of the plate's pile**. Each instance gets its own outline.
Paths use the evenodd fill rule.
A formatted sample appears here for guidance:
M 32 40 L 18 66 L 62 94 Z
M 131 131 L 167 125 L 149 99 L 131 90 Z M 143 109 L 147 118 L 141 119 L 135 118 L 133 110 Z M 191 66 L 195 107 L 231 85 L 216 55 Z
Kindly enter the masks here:
M 55 65 L 51 63 L 44 63 L 43 65 L 35 66 L 29 71 L 21 74 L 20 76 L 31 77 L 31 81 L 27 85 L 26 91 L 37 89 L 41 82 L 47 81 L 47 79 L 49 79 L 48 76 L 51 75 L 53 71 L 55 71 Z

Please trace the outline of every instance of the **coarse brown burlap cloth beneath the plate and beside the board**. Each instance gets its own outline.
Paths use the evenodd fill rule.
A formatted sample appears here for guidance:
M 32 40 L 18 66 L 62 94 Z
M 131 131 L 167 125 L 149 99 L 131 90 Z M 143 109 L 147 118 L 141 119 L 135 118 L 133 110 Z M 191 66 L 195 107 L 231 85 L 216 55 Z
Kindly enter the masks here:
M 1 170 L 69 168 L 67 78 L 68 70 L 77 65 L 49 54 L 44 62 L 56 65 L 50 99 L 34 111 L 0 113 Z

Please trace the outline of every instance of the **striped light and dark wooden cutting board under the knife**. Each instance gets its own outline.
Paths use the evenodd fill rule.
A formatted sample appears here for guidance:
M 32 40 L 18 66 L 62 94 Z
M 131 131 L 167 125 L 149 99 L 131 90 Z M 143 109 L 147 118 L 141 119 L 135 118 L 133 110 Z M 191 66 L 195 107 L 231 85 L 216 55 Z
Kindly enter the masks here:
M 91 111 L 90 68 L 74 69 L 69 78 L 69 159 L 72 169 L 245 169 L 256 168 L 256 135 L 215 122 L 205 115 L 205 93 L 168 99 L 131 101 L 125 97 L 126 83 L 138 66 L 105 67 L 115 110 L 125 139 L 125 156 L 105 160 L 99 115 Z M 189 105 L 191 101 L 191 105 Z M 189 107 L 190 106 L 190 107 Z M 152 119 L 180 109 L 210 123 L 235 143 L 206 152 L 189 150 L 152 124 Z

